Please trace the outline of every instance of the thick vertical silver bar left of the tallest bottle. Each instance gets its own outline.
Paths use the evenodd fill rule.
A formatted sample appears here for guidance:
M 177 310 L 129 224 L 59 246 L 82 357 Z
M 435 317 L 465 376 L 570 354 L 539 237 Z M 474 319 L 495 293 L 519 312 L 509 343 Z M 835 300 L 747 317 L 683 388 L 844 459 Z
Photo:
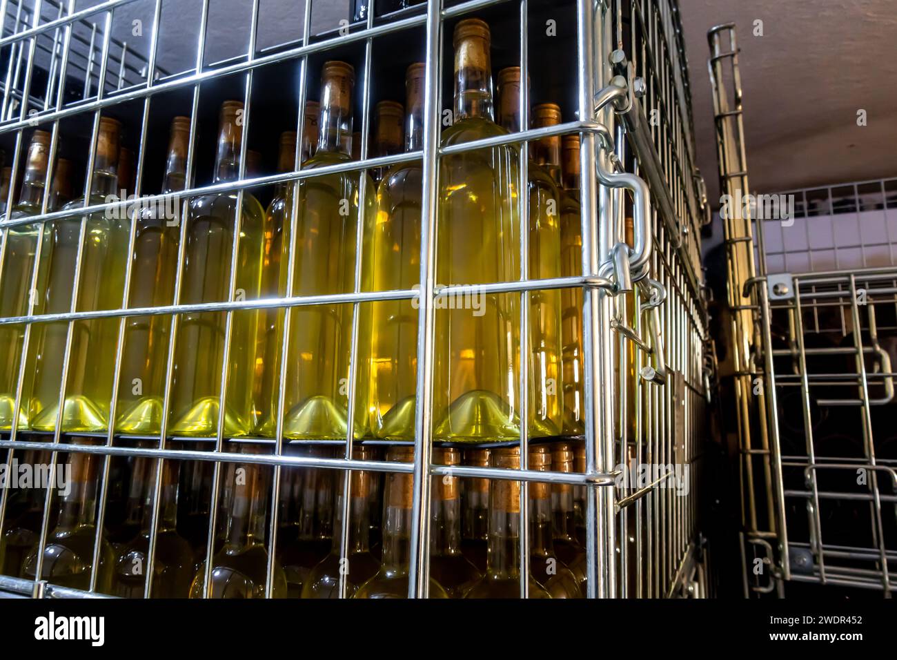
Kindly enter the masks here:
M 427 0 L 423 97 L 421 198 L 421 296 L 417 321 L 417 398 L 414 401 L 414 494 L 408 597 L 429 594 L 430 503 L 433 409 L 433 289 L 436 275 L 436 213 L 439 176 L 439 80 L 442 58 L 440 0 Z

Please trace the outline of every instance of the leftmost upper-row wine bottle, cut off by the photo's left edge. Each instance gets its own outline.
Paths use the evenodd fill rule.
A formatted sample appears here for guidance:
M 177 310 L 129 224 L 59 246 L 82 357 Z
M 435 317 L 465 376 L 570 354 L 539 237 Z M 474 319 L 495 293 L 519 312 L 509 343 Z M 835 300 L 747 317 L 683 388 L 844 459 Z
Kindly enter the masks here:
M 47 180 L 49 148 L 50 134 L 42 130 L 34 131 L 28 147 L 19 201 L 9 213 L 11 220 L 36 216 L 40 213 Z M 9 186 L 8 177 L 6 186 L 7 188 Z M 3 200 L 4 202 L 6 200 L 5 194 Z M 44 242 L 41 248 L 41 266 L 44 266 L 49 259 L 48 248 L 51 236 L 49 230 L 41 233 L 40 224 L 18 224 L 6 230 L 6 254 L 3 271 L 0 273 L 0 314 L 3 316 L 24 316 L 28 313 L 35 251 L 41 236 Z M 39 287 L 43 288 L 44 286 L 46 284 L 39 280 Z M 33 302 L 37 303 L 38 301 L 34 300 Z M 37 327 L 35 326 L 35 329 Z M 31 332 L 34 333 L 35 330 L 31 330 Z M 2 430 L 9 430 L 13 425 L 13 407 L 16 387 L 19 383 L 19 365 L 22 359 L 24 339 L 25 326 L 0 326 L 0 429 Z M 19 409 L 18 420 L 18 427 L 22 430 L 27 429 L 29 425 L 30 383 L 29 373 L 25 371 L 22 378 L 22 407 Z

